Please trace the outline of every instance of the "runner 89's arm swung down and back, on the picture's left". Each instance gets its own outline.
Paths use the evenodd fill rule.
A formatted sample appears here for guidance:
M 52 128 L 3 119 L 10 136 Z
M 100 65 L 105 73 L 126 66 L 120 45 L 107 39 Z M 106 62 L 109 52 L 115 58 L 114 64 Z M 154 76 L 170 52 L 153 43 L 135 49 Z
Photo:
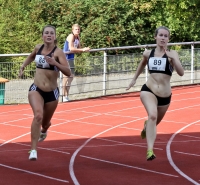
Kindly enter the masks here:
M 131 83 L 129 84 L 129 86 L 126 88 L 126 90 L 129 90 L 131 87 L 133 87 L 135 85 L 138 76 L 143 72 L 143 70 L 147 64 L 149 54 L 150 54 L 149 50 L 145 50 L 143 52 L 143 58 L 142 58 L 141 62 L 139 63 L 138 68 L 135 72 L 135 75 L 133 76 L 133 79 L 132 79 Z

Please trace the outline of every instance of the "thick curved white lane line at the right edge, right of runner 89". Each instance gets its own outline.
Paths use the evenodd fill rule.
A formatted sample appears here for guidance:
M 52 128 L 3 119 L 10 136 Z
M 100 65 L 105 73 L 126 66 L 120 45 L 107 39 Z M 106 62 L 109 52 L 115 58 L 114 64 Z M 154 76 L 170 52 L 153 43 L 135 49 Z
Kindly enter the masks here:
M 195 121 L 195 122 L 193 122 L 193 123 L 190 123 L 190 124 L 186 125 L 185 127 L 181 128 L 180 130 L 178 130 L 177 132 L 175 132 L 175 133 L 171 136 L 171 138 L 169 139 L 169 141 L 168 141 L 168 143 L 167 143 L 167 146 L 166 146 L 167 158 L 168 158 L 169 163 L 171 164 L 171 166 L 172 166 L 181 176 L 183 176 L 185 179 L 187 179 L 188 181 L 192 182 L 192 183 L 195 184 L 195 185 L 199 185 L 199 183 L 196 182 L 195 180 L 193 180 L 192 178 L 190 178 L 190 177 L 189 177 L 188 175 L 186 175 L 185 173 L 183 173 L 183 172 L 175 165 L 175 163 L 174 163 L 174 161 L 173 161 L 173 159 L 172 159 L 172 156 L 171 156 L 170 146 L 171 146 L 171 143 L 172 143 L 173 139 L 175 138 L 175 136 L 176 136 L 178 133 L 180 133 L 180 132 L 181 132 L 182 130 L 184 130 L 185 128 L 187 128 L 187 127 L 189 127 L 189 126 L 191 126 L 191 125 L 193 125 L 193 124 L 196 124 L 196 123 L 198 123 L 198 122 L 200 122 L 200 120 Z

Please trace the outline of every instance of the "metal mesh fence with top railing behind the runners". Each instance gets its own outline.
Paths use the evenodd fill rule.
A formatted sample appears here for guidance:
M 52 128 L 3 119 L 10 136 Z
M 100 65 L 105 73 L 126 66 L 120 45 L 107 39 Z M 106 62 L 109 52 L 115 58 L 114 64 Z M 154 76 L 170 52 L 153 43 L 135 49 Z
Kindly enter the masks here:
M 200 42 L 169 43 L 169 46 L 188 45 L 188 49 L 177 50 L 181 63 L 185 69 L 184 76 L 180 77 L 174 72 L 171 85 L 188 85 L 200 81 L 200 49 L 195 45 Z M 113 47 L 93 49 L 90 52 L 103 52 L 102 56 L 89 56 L 85 59 L 84 65 L 76 65 L 78 72 L 70 88 L 70 99 L 80 100 L 91 97 L 99 97 L 112 94 L 127 93 L 125 90 L 130 83 L 138 63 L 142 58 L 141 53 L 134 53 L 135 49 L 146 49 L 155 47 L 152 45 L 137 45 L 126 47 Z M 108 55 L 108 51 L 131 50 L 132 54 Z M 6 78 L 9 82 L 5 85 L 0 82 L 0 104 L 28 103 L 28 89 L 33 83 L 35 64 L 32 62 L 26 67 L 22 79 L 18 78 L 18 72 L 24 58 L 24 54 L 1 54 L 0 55 L 0 77 Z M 78 59 L 76 61 L 78 63 Z M 139 76 L 136 85 L 128 92 L 139 91 L 148 78 L 147 68 Z M 62 102 L 63 75 L 58 78 L 60 88 L 60 99 Z M 3 101 L 2 101 L 3 100 Z M 1 103 L 2 102 L 2 103 Z

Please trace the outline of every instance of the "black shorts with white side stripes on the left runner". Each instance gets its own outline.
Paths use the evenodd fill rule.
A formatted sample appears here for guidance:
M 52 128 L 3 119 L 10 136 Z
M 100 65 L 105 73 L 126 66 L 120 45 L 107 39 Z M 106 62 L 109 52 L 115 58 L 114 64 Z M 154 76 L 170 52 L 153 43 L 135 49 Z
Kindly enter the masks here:
M 58 87 L 53 91 L 44 92 L 40 88 L 38 88 L 35 84 L 32 84 L 29 88 L 29 91 L 37 91 L 40 93 L 42 98 L 44 99 L 44 103 L 55 101 L 59 98 L 59 89 Z

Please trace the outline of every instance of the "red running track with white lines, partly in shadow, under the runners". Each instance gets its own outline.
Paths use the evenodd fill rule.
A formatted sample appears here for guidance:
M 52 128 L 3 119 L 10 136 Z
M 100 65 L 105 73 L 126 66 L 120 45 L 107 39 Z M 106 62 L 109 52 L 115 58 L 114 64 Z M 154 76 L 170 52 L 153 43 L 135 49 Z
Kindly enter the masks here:
M 200 184 L 200 86 L 173 88 L 146 161 L 139 93 L 60 103 L 48 137 L 29 161 L 29 105 L 0 106 L 1 185 Z

